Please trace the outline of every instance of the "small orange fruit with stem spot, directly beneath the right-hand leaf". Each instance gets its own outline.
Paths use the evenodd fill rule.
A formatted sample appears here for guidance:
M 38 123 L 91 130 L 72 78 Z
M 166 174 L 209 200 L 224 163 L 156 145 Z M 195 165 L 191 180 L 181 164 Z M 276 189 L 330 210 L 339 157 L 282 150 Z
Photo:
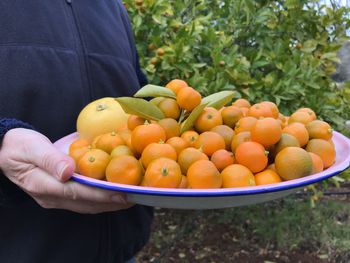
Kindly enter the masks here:
M 222 124 L 222 117 L 217 109 L 208 107 L 198 116 L 194 122 L 195 129 L 199 132 L 210 131 L 215 126 Z

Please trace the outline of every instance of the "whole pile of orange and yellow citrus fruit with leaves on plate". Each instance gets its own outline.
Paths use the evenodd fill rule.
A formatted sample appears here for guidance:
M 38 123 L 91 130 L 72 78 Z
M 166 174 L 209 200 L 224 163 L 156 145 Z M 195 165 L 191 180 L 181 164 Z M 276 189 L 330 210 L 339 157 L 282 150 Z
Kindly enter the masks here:
M 233 96 L 202 98 L 175 79 L 134 97 L 94 101 L 80 113 L 80 137 L 69 147 L 76 172 L 128 185 L 209 189 L 279 183 L 335 162 L 332 128 L 312 109 L 284 116 L 272 102 Z

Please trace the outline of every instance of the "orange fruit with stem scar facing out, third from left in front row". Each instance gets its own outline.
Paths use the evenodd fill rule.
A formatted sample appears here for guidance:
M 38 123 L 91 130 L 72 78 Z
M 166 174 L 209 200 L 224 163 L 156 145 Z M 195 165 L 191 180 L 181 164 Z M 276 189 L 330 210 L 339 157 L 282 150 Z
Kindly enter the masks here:
M 177 162 L 168 158 L 159 158 L 148 165 L 144 178 L 146 186 L 177 188 L 181 183 L 182 174 Z

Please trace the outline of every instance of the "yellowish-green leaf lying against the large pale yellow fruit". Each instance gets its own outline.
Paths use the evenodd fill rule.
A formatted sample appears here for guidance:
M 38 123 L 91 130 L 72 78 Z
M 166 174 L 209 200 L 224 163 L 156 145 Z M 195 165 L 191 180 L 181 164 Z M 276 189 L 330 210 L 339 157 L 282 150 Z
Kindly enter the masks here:
M 153 103 L 139 98 L 115 98 L 126 113 L 137 115 L 146 120 L 161 120 L 165 118 L 163 112 Z

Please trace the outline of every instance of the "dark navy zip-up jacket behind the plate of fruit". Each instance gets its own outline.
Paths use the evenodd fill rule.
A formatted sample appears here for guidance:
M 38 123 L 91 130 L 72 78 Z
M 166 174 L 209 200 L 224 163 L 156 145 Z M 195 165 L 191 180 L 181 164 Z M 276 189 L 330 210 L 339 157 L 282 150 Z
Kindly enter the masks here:
M 119 0 L 0 1 L 0 119 L 31 124 L 55 141 L 80 110 L 130 96 L 140 72 Z M 43 209 L 0 174 L 0 262 L 123 262 L 145 244 L 152 210 L 82 215 Z

